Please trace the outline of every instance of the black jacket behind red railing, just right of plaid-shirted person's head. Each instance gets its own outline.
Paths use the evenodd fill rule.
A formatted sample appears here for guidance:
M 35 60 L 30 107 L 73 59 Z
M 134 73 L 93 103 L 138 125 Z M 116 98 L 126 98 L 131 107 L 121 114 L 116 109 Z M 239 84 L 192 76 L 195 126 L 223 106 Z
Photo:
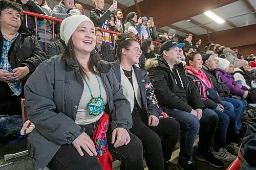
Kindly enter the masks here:
M 45 13 L 42 12 L 40 7 L 38 5 L 36 5 L 36 3 L 34 1 L 32 1 L 32 0 L 29 0 L 26 4 L 22 4 L 22 2 L 20 0 L 17 0 L 17 3 L 22 5 L 22 9 L 23 10 L 31 11 L 31 12 L 35 12 L 35 13 L 38 13 L 38 14 L 45 15 Z M 28 28 L 35 29 L 35 17 L 27 15 L 27 18 L 28 18 Z M 37 17 L 37 19 L 38 20 L 44 20 L 43 18 L 39 18 L 39 17 Z M 24 26 L 26 26 L 26 18 L 25 18 L 25 16 L 24 16 L 24 19 L 22 21 L 22 24 Z

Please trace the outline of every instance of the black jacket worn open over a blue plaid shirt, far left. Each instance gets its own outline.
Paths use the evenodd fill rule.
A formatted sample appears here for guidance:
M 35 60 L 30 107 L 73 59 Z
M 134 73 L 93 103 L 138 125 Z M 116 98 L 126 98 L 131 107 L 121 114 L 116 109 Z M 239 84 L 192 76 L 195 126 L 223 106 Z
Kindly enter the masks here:
M 18 37 L 12 43 L 8 52 L 8 60 L 12 69 L 27 66 L 29 74 L 22 80 L 27 80 L 35 68 L 46 59 L 46 54 L 42 52 L 42 48 L 36 40 L 36 36 L 32 34 L 25 26 L 20 26 Z M 0 30 L 0 53 L 3 49 L 3 34 Z M 0 58 L 1 61 L 1 58 Z

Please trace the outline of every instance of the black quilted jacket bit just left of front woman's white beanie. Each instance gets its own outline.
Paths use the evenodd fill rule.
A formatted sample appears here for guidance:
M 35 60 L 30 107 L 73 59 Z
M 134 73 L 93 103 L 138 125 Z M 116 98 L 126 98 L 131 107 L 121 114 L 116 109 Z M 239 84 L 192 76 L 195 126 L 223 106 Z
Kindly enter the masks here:
M 53 41 L 47 45 L 46 57 L 51 58 L 55 55 L 63 54 L 66 47 L 67 45 L 65 44 L 65 41 L 58 38 L 56 41 Z

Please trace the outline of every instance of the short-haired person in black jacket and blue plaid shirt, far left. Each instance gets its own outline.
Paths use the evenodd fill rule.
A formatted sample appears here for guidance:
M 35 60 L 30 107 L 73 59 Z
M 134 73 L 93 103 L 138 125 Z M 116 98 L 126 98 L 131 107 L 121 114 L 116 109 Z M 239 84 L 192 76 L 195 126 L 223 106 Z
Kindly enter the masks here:
M 1 1 L 0 8 L 0 112 L 21 114 L 19 100 L 26 80 L 46 56 L 36 36 L 21 25 L 22 7 Z

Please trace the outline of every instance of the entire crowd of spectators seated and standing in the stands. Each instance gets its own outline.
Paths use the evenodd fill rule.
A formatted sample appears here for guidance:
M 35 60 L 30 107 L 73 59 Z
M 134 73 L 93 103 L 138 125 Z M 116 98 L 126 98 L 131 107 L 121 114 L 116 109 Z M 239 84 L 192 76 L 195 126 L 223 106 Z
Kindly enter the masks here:
M 256 56 L 202 47 L 191 34 L 177 43 L 153 17 L 124 20 L 116 1 L 93 4 L 86 16 L 74 0 L 53 10 L 45 0 L 0 1 L 0 113 L 20 114 L 26 99 L 34 168 L 112 169 L 117 159 L 143 169 L 144 150 L 148 169 L 168 169 L 179 138 L 177 169 L 193 170 L 197 134 L 197 160 L 222 168 L 236 159 L 242 115 L 256 107 Z M 52 30 L 23 10 L 63 21 Z

